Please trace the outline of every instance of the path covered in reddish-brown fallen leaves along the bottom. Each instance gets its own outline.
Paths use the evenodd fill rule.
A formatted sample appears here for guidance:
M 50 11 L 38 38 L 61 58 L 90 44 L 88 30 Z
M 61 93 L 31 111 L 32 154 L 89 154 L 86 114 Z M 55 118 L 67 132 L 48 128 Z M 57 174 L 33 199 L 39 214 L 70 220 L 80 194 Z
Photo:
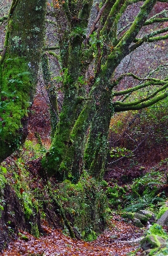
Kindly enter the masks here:
M 139 247 L 139 243 L 132 243 L 143 236 L 143 230 L 134 227 L 131 223 L 125 223 L 119 216 L 113 216 L 112 228 L 106 230 L 93 242 L 85 242 L 71 239 L 64 236 L 60 230 L 43 226 L 48 233 L 46 236 L 31 236 L 27 232 L 22 232 L 29 238 L 28 241 L 16 237 L 0 255 L 3 256 L 31 256 L 31 255 L 95 255 L 95 256 L 122 256 L 134 251 Z M 130 242 L 128 242 L 130 241 Z

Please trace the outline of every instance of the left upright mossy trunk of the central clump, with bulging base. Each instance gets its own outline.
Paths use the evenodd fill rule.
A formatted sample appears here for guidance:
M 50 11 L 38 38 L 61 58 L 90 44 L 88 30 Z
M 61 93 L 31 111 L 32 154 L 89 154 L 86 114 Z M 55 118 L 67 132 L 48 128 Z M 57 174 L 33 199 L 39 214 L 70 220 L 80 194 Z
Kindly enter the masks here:
M 80 8 L 81 7 L 81 8 Z M 64 30 L 62 20 L 58 18 L 58 26 L 62 31 L 59 38 L 60 56 L 63 65 L 63 89 L 64 102 L 59 115 L 59 123 L 55 132 L 49 152 L 43 157 L 42 165 L 51 177 L 56 174 L 58 180 L 63 180 L 69 173 L 69 147 L 72 145 L 71 130 L 80 115 L 83 104 L 79 104 L 79 96 L 83 96 L 84 90 L 80 88 L 79 77 L 85 74 L 83 70 L 82 44 L 85 39 L 85 29 L 87 28 L 88 17 L 92 1 L 83 1 L 80 5 L 63 4 L 62 15 L 67 21 L 69 33 Z M 74 17 L 75 13 L 75 17 Z M 66 55 L 66 56 L 65 56 Z M 86 67 L 85 67 L 86 68 Z M 66 157 L 66 161 L 64 161 Z

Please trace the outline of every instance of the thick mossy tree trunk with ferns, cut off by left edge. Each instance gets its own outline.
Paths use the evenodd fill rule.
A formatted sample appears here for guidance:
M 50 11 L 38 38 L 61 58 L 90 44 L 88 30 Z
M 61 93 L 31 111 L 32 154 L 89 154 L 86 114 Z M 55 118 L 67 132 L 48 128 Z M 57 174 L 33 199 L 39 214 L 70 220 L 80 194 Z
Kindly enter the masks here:
M 36 91 L 46 0 L 13 0 L 1 58 L 0 161 L 22 144 Z

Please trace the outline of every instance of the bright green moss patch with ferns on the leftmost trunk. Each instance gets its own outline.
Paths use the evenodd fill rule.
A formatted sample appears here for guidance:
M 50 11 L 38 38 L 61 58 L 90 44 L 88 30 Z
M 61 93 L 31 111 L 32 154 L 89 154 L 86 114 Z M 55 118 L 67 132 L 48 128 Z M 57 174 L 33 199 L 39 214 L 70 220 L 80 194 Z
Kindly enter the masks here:
M 4 60 L 0 94 L 0 136 L 14 148 L 20 145 L 22 120 L 27 116 L 27 108 L 31 104 L 30 88 L 29 67 L 25 58 Z M 1 154 L 4 148 L 1 147 Z

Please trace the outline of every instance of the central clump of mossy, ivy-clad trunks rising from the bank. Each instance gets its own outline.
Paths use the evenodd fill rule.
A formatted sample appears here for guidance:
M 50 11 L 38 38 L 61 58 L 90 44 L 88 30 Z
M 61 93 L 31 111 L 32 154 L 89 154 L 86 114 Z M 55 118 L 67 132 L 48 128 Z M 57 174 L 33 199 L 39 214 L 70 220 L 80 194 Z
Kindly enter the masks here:
M 96 25 L 99 27 L 96 35 L 92 34 L 91 39 L 91 34 L 88 35 L 87 40 L 84 40 L 85 29 L 92 3 L 60 3 L 59 13 L 64 13 L 69 35 L 58 19 L 60 31 L 63 31 L 59 43 L 64 68 L 64 104 L 52 146 L 42 161 L 48 177 L 55 174 L 58 180 L 69 178 L 77 182 L 83 169 L 86 169 L 97 180 L 101 179 L 106 162 L 110 118 L 121 108 L 112 101 L 113 88 L 117 85 L 113 74 L 123 58 L 132 51 L 134 40 L 156 2 L 144 1 L 129 29 L 118 37 L 116 24 L 129 3 L 123 0 L 104 1 L 107 5 L 104 15 L 100 17 L 100 26 L 94 24 L 95 29 Z M 85 86 L 81 88 L 80 77 L 85 75 L 93 56 L 94 79 L 90 92 L 86 93 Z M 81 100 L 79 104 L 79 97 L 84 99 L 85 93 L 88 101 Z M 145 104 L 141 104 L 141 108 L 143 106 Z

